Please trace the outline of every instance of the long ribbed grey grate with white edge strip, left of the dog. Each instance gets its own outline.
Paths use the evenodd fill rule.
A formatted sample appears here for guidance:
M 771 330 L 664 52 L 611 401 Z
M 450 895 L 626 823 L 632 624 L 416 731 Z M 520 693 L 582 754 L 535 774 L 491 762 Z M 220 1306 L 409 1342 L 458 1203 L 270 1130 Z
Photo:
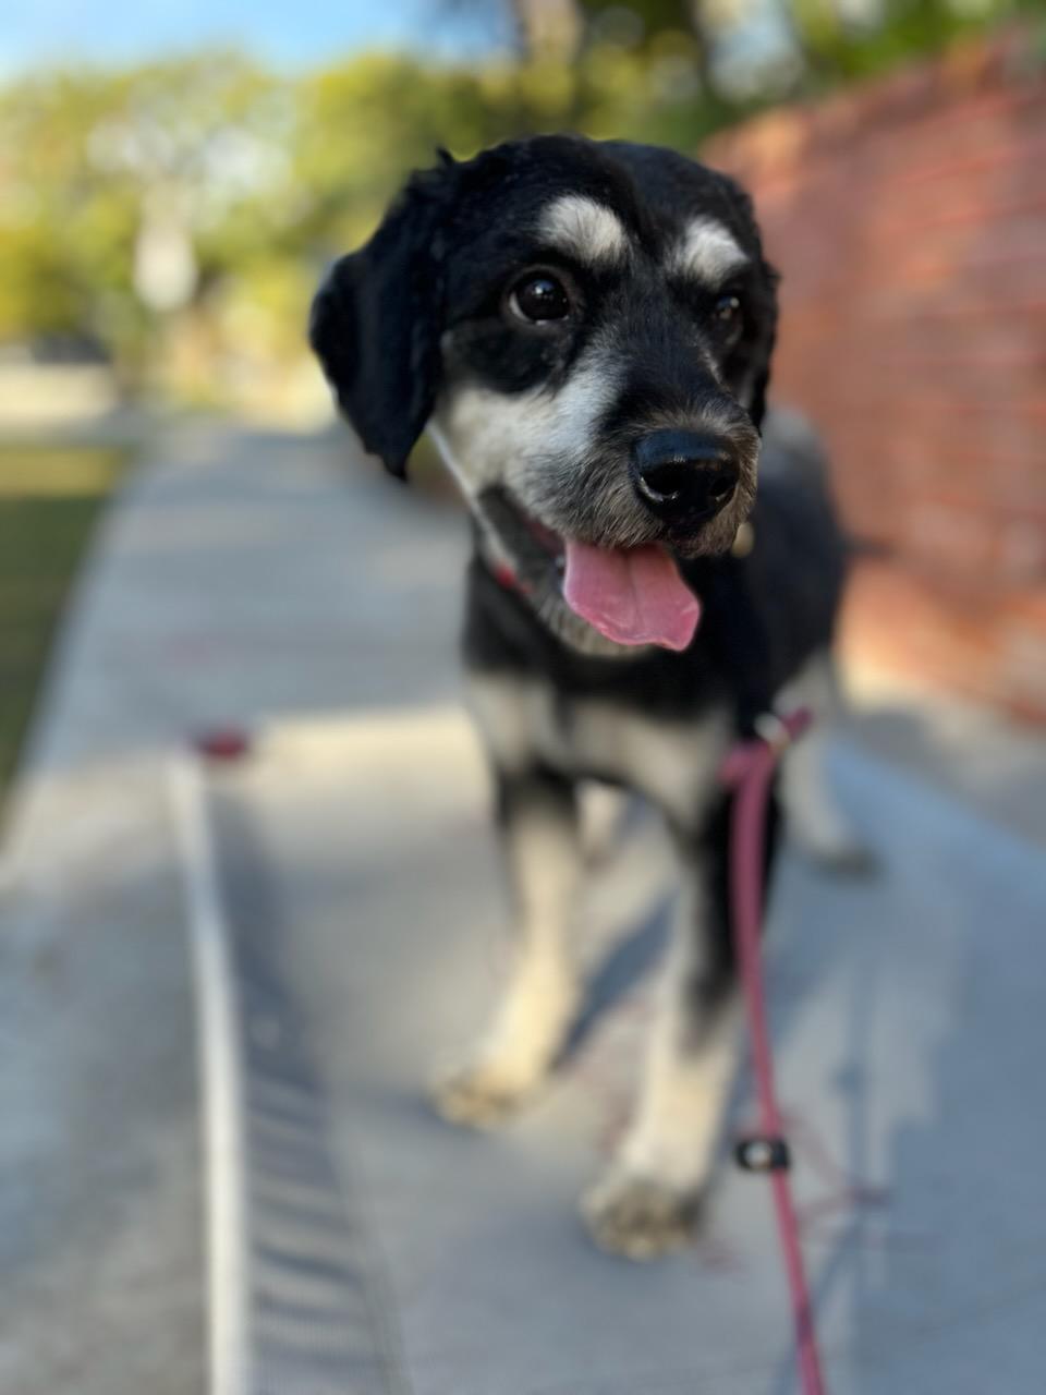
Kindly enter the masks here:
M 173 774 L 206 1110 L 209 1395 L 402 1395 L 388 1288 L 332 1162 L 280 974 L 279 897 L 236 781 L 190 756 Z

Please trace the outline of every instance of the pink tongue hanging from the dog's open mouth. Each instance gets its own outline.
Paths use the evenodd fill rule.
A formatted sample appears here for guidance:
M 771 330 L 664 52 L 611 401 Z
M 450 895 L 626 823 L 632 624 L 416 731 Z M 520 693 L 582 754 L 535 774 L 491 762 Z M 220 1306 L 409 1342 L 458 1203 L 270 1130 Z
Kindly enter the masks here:
M 566 538 L 563 596 L 618 644 L 686 649 L 702 614 L 672 558 L 654 545 L 623 551 Z

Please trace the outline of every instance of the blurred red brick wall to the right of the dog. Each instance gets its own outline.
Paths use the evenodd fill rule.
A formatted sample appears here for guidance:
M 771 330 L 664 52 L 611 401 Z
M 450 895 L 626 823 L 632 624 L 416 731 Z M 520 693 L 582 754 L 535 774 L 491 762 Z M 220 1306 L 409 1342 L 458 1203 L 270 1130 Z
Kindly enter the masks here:
M 844 643 L 1046 720 L 1046 80 L 1022 36 L 717 138 L 780 266 L 774 392 L 833 452 Z

